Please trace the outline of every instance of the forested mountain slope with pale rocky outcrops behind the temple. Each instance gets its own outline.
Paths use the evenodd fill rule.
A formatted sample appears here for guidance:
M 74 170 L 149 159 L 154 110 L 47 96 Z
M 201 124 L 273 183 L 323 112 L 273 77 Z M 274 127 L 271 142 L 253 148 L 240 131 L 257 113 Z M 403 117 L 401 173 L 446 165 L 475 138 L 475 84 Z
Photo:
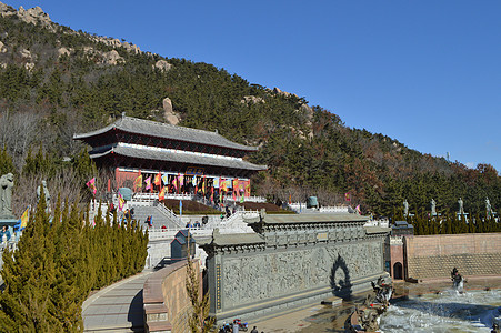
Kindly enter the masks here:
M 441 210 L 455 210 L 460 196 L 471 212 L 482 212 L 485 196 L 501 206 L 501 180 L 489 164 L 472 170 L 423 154 L 348 128 L 337 114 L 278 88 L 73 31 L 40 8 L 0 3 L 0 144 L 13 168 L 20 172 L 40 142 L 52 159 L 77 157 L 82 145 L 73 133 L 122 112 L 217 129 L 259 145 L 250 159 L 270 170 L 255 176 L 253 191 L 274 201 L 317 195 L 322 204 L 361 204 L 363 212 L 385 215 L 395 215 L 404 199 L 417 211 L 428 211 L 432 198 Z

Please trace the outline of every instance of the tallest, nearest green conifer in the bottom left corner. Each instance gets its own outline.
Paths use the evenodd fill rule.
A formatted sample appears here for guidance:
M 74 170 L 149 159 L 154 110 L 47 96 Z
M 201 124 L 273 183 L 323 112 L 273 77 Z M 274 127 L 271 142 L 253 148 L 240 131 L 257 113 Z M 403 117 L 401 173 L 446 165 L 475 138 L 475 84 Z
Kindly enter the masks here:
M 1 332 L 63 332 L 51 315 L 50 293 L 57 273 L 53 234 L 46 213 L 43 191 L 34 214 L 13 253 L 3 252 L 2 278 L 6 290 L 0 296 Z M 7 319 L 8 317 L 8 319 Z

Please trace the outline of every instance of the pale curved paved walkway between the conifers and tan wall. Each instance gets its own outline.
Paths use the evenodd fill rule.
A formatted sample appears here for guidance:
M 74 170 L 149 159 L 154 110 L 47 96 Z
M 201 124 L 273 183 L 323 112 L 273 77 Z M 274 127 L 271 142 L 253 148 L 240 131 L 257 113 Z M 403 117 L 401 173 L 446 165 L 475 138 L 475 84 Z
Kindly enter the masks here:
M 98 291 L 83 302 L 83 332 L 143 332 L 142 272 Z

